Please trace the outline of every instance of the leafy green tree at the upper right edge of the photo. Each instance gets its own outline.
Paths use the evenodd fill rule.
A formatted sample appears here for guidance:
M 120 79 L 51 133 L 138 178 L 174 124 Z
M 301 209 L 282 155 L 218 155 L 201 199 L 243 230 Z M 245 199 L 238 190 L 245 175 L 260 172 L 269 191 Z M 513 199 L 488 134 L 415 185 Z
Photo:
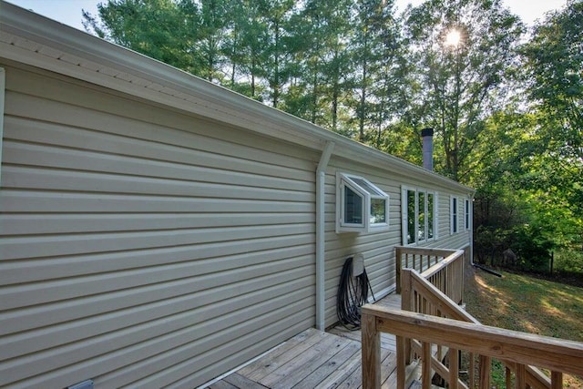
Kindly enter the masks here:
M 523 47 L 531 101 L 545 114 L 537 135 L 556 156 L 583 159 L 583 1 L 567 6 L 536 26 Z M 575 159 L 575 160 L 574 160 Z M 580 172 L 580 171 L 579 171 Z

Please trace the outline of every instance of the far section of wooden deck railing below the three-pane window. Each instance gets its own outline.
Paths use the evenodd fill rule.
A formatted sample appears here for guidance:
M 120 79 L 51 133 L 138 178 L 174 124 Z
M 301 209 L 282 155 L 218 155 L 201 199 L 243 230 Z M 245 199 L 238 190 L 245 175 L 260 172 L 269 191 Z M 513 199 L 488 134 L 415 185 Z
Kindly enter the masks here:
M 414 269 L 457 303 L 464 296 L 465 251 L 395 247 L 396 292 L 401 293 L 404 269 Z

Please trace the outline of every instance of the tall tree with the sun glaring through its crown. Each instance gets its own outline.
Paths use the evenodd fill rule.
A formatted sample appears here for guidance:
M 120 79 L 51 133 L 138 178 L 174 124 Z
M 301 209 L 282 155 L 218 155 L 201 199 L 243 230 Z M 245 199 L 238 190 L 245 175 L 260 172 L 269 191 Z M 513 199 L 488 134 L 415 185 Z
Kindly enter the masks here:
M 406 29 L 418 102 L 409 116 L 435 128 L 436 169 L 466 182 L 485 120 L 509 93 L 523 26 L 500 0 L 428 0 L 408 10 Z

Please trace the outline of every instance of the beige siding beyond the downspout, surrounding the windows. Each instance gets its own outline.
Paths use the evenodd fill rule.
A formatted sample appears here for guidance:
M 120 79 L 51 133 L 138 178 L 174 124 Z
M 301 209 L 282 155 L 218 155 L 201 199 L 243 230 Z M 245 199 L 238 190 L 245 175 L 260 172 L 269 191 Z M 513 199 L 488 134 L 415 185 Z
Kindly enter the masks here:
M 451 189 L 435 186 L 434 183 L 420 182 L 411 177 L 391 172 L 389 166 L 385 169 L 364 166 L 345 159 L 332 159 L 326 175 L 325 186 L 325 221 L 326 221 L 326 274 L 325 274 L 325 325 L 331 326 L 338 321 L 336 315 L 336 296 L 338 283 L 344 261 L 355 253 L 362 253 L 364 266 L 371 282 L 373 292 L 392 291 L 394 287 L 394 246 L 402 244 L 401 196 L 403 185 L 410 188 L 431 190 L 437 197 L 437 239 L 426 241 L 422 245 L 445 249 L 462 249 L 469 244 L 470 231 L 463 228 L 456 234 L 450 234 L 450 195 L 459 198 L 459 204 L 467 199 L 466 193 L 453 193 Z M 335 231 L 336 216 L 336 171 L 353 173 L 369 179 L 374 185 L 389 194 L 389 230 L 376 233 Z M 459 205 L 458 215 L 463 212 Z M 463 223 L 463 215 L 459 215 Z M 463 224 L 459 224 L 463 226 Z

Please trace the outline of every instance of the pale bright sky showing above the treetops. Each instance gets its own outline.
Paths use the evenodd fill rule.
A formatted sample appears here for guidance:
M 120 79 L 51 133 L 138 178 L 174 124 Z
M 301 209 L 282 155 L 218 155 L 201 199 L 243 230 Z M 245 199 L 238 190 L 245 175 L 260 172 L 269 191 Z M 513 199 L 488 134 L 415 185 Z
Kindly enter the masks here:
M 81 23 L 81 9 L 85 9 L 92 15 L 97 15 L 97 4 L 107 2 L 107 0 L 7 1 L 80 30 L 85 30 Z M 399 10 L 403 10 L 409 3 L 412 5 L 419 5 L 423 3 L 423 1 L 424 0 L 396 0 L 396 5 Z M 546 12 L 558 9 L 567 4 L 567 0 L 503 0 L 503 3 L 508 6 L 514 14 L 519 15 L 527 25 L 532 26 L 535 20 L 542 20 Z

